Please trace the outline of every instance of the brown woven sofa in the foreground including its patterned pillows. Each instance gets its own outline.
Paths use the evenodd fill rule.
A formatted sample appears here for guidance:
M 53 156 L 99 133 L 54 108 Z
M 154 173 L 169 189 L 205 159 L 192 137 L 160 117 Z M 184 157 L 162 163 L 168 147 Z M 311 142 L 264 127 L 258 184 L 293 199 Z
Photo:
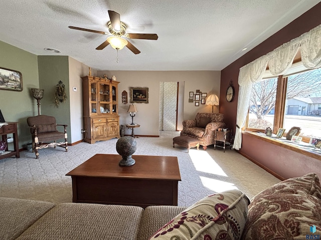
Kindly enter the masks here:
M 238 189 L 190 207 L 60 203 L 0 197 L 0 239 L 320 239 L 321 186 L 309 173 L 251 201 Z

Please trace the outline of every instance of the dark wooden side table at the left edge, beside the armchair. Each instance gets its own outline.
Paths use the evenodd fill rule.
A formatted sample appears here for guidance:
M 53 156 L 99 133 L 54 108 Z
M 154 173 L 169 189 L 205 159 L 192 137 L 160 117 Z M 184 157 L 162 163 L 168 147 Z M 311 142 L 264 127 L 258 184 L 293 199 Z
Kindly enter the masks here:
M 18 130 L 17 130 L 18 122 L 7 122 L 7 123 L 8 125 L 3 125 L 2 127 L 0 127 L 0 135 L 2 135 L 2 140 L 4 141 L 7 139 L 7 134 L 13 133 L 14 150 L 6 154 L 0 154 L 0 159 L 13 156 L 13 155 L 16 155 L 16 157 L 20 157 L 19 144 L 18 144 L 19 143 Z M 7 145 L 6 151 L 8 151 L 8 145 Z

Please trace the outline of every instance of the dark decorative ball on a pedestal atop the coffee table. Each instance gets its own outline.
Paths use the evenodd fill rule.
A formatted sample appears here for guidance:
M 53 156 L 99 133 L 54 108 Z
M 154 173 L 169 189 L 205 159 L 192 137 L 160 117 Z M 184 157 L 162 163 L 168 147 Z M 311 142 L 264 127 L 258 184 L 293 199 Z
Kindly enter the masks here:
M 136 151 L 137 142 L 131 136 L 122 136 L 117 140 L 116 151 L 122 156 L 119 161 L 120 166 L 131 166 L 135 164 L 135 160 L 131 155 Z

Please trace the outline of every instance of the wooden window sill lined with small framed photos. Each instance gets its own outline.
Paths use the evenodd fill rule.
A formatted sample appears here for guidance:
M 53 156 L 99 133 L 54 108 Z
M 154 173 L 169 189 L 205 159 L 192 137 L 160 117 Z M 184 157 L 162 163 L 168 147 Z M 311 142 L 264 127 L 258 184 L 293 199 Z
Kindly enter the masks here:
M 289 140 L 286 140 L 285 137 L 282 137 L 280 139 L 275 136 L 267 136 L 264 133 L 258 133 L 253 131 L 242 131 L 242 134 L 250 134 L 251 136 L 254 136 L 258 139 L 261 139 L 269 143 L 321 160 L 321 149 L 311 147 L 305 142 L 303 142 L 302 144 L 297 144 Z

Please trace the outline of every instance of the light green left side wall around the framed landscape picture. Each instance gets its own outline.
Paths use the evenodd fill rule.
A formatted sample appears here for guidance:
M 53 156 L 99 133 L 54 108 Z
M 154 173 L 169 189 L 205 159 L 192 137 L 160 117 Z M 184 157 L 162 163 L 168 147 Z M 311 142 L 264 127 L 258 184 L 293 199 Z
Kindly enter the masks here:
M 39 87 L 37 55 L 0 41 L 0 56 L 0 67 L 22 73 L 22 91 L 0 89 L 0 109 L 6 121 L 19 122 L 19 148 L 22 148 L 31 142 L 27 117 L 38 114 L 37 101 L 30 90 Z

